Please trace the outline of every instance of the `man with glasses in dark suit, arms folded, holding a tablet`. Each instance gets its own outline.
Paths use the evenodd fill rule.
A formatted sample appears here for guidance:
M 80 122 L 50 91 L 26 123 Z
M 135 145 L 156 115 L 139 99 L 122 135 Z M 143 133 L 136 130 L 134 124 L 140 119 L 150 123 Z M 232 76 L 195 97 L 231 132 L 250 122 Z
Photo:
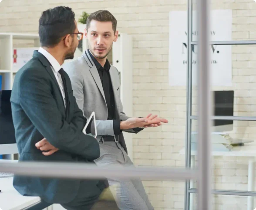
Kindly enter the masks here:
M 11 107 L 19 161 L 89 162 L 99 158 L 98 141 L 82 130 L 86 118 L 73 96 L 71 81 L 61 68 L 73 59 L 83 34 L 77 30 L 74 12 L 55 7 L 39 20 L 41 47 L 16 74 Z M 49 155 L 37 142 L 47 139 L 54 147 Z M 14 176 L 13 186 L 22 195 L 40 196 L 69 210 L 89 210 L 106 188 L 106 180 L 64 180 Z

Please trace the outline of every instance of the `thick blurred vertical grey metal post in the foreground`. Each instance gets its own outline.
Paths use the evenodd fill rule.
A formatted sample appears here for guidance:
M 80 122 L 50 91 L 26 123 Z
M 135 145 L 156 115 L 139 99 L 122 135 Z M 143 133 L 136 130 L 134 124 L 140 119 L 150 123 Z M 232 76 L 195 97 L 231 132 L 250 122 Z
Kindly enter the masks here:
M 197 27 L 198 27 L 198 98 L 199 98 L 199 210 L 210 210 L 211 188 L 211 144 L 210 129 L 212 115 L 211 81 L 209 69 L 209 0 L 197 0 Z

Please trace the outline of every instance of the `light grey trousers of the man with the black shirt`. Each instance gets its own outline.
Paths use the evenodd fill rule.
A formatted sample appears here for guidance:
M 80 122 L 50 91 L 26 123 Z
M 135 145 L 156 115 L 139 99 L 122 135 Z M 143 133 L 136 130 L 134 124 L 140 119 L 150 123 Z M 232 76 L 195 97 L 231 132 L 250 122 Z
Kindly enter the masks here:
M 101 156 L 95 163 L 100 166 L 135 167 L 121 144 L 99 142 Z M 108 179 L 111 192 L 120 210 L 154 210 L 140 179 Z

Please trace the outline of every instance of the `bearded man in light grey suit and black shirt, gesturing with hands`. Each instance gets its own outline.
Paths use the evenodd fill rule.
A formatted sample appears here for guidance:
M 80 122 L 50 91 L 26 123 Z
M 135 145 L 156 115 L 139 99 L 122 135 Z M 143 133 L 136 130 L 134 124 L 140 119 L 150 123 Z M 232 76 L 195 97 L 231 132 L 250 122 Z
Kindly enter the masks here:
M 80 58 L 64 64 L 63 68 L 71 78 L 77 105 L 84 116 L 89 118 L 91 112 L 95 112 L 101 153 L 95 163 L 98 166 L 134 167 L 122 132 L 138 133 L 144 127 L 159 126 L 167 120 L 148 115 L 145 121 L 144 118 L 130 118 L 123 112 L 120 75 L 107 59 L 113 42 L 118 39 L 116 26 L 115 17 L 107 10 L 91 13 L 85 31 L 89 49 Z M 87 133 L 94 134 L 94 123 L 90 123 Z M 108 179 L 108 182 L 117 186 L 112 193 L 121 210 L 153 209 L 141 180 Z

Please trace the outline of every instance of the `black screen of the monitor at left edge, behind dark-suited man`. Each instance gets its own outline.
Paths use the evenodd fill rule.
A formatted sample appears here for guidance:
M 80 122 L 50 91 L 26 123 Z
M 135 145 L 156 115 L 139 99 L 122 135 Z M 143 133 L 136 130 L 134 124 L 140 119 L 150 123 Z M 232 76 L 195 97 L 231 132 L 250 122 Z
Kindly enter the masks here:
M 0 144 L 16 143 L 10 95 L 10 90 L 0 91 Z

